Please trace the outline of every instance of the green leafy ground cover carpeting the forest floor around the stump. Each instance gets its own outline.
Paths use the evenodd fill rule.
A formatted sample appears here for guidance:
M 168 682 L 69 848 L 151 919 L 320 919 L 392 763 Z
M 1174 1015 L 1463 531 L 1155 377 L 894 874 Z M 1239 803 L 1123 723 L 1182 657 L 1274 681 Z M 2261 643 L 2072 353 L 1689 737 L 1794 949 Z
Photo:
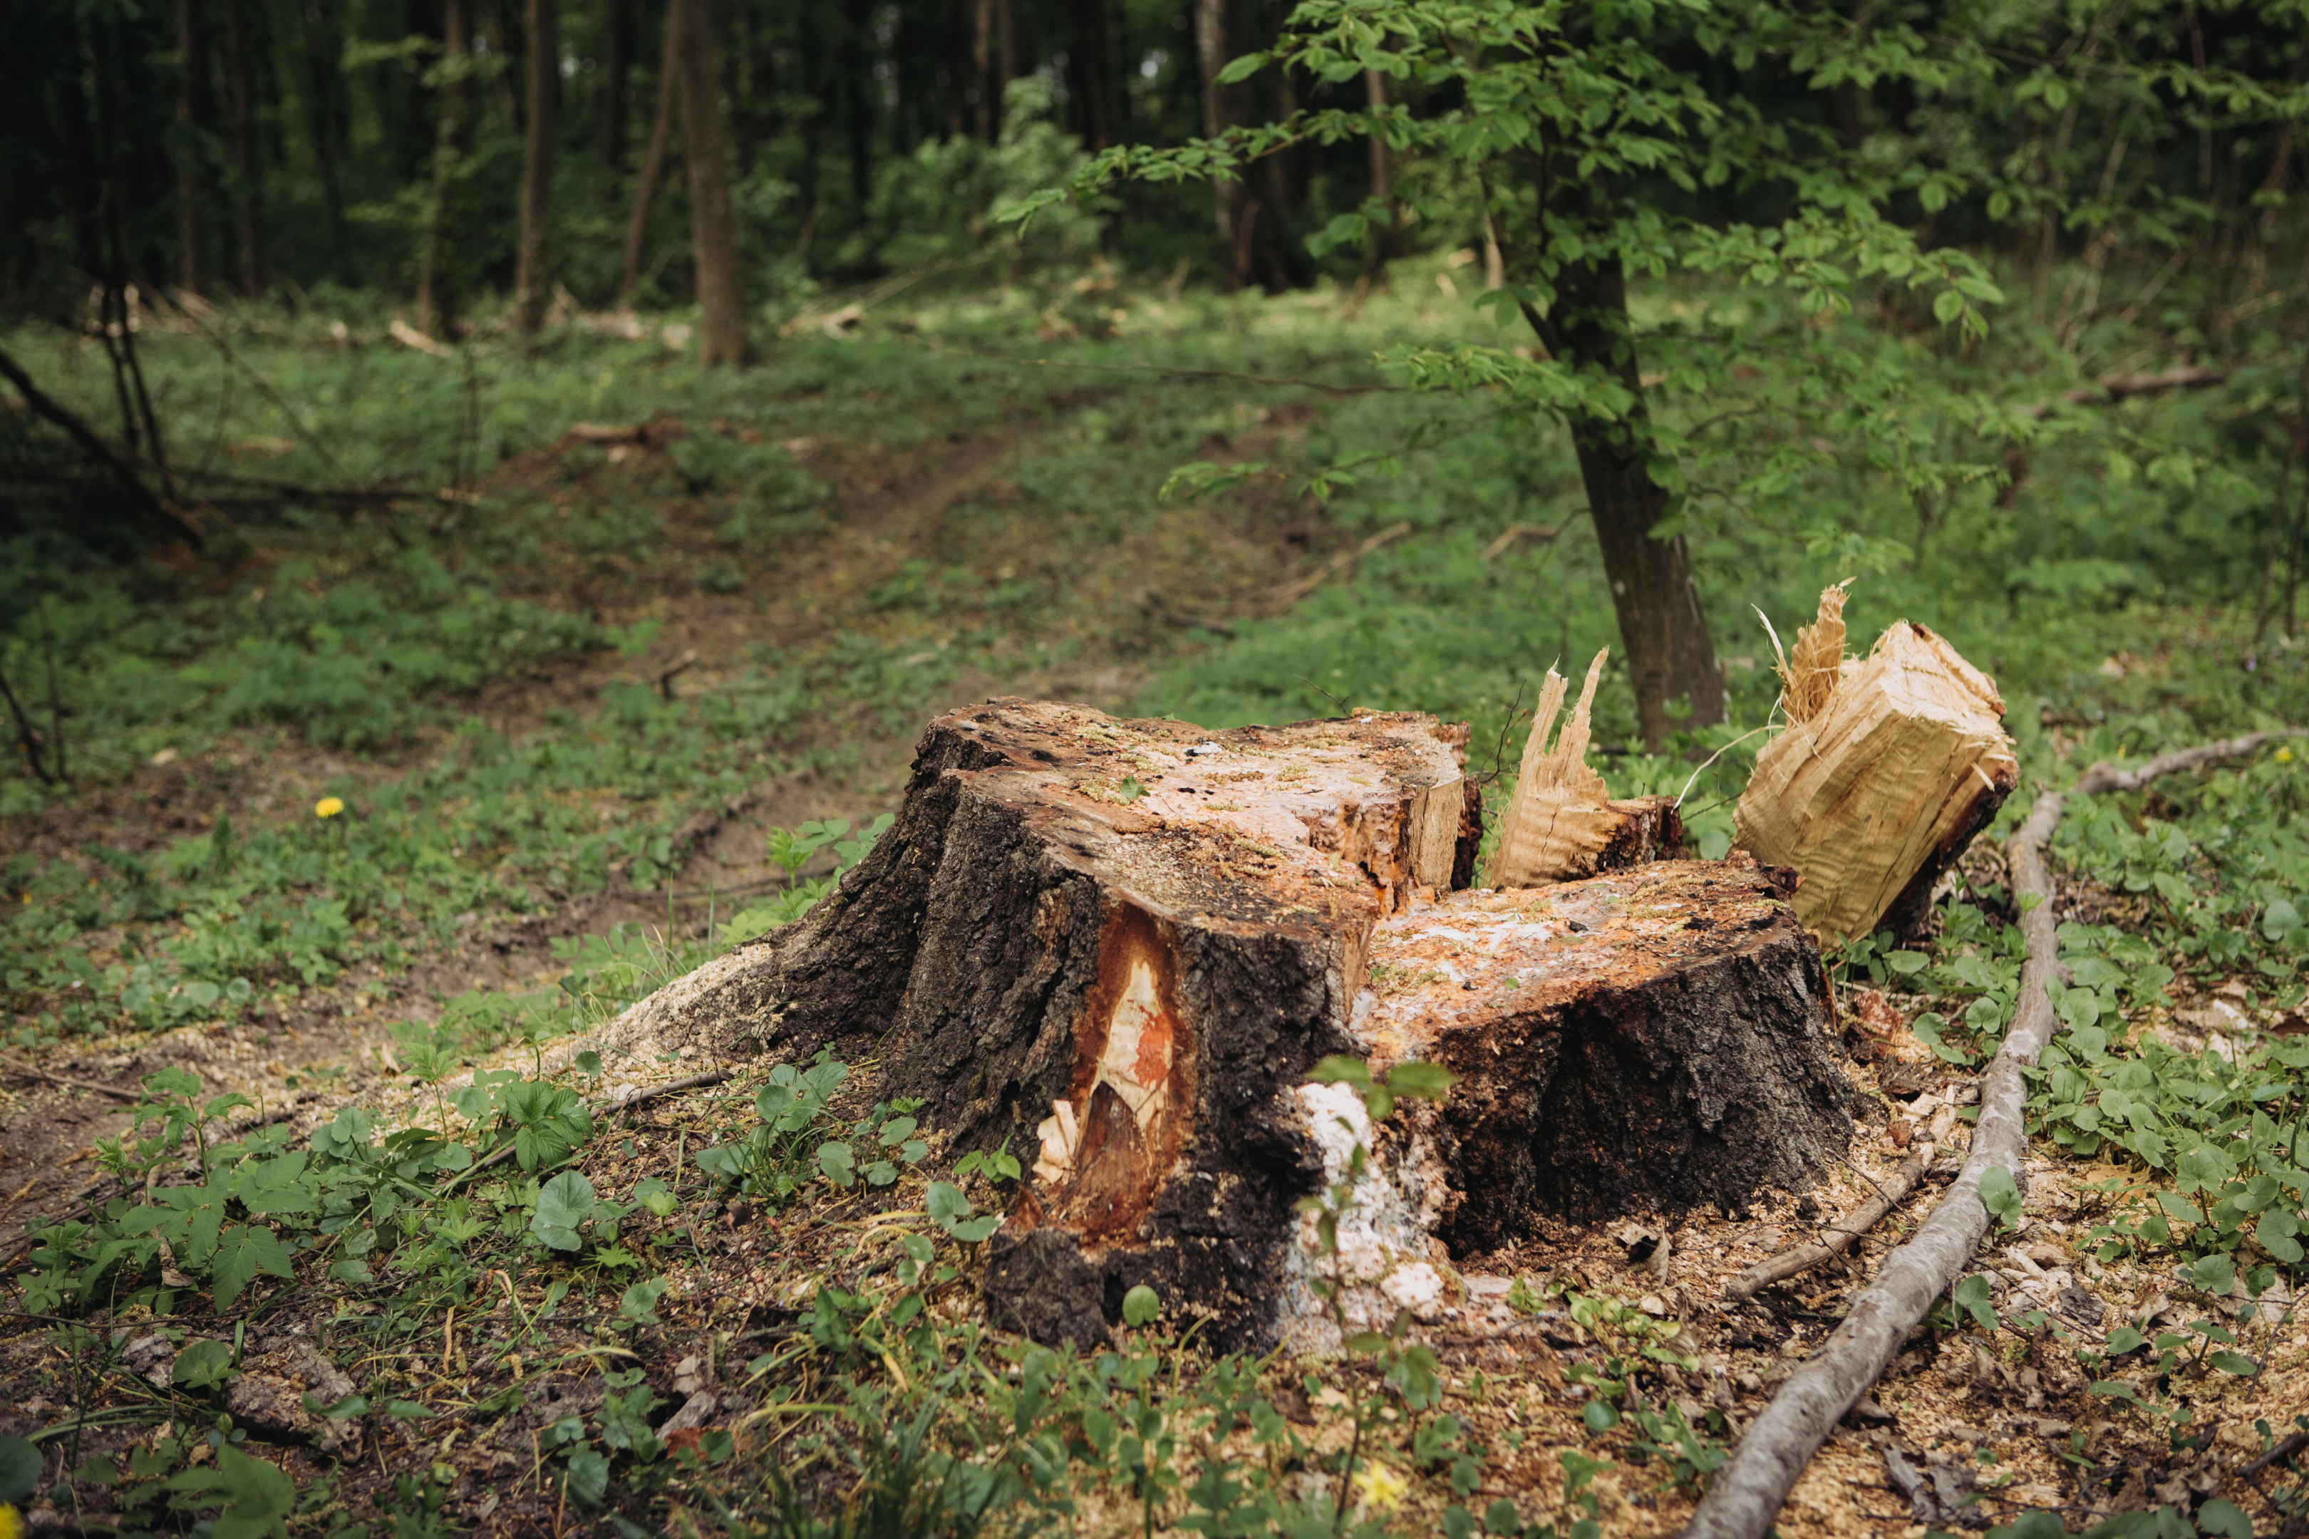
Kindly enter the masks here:
M 490 925 L 575 898 L 690 902 L 718 881 L 686 835 L 695 819 L 787 771 L 859 773 L 861 743 L 903 752 L 951 699 L 1053 678 L 1104 678 L 1094 704 L 1212 727 L 1436 711 L 1473 725 L 1471 771 L 1505 796 L 1538 676 L 1614 644 L 1570 441 L 1482 390 L 1256 383 L 1392 383 L 1369 362 L 1383 348 L 1464 330 L 1459 309 L 1413 298 L 1459 270 L 1399 263 L 1397 291 L 1355 311 L 1337 293 L 1173 298 L 1094 270 L 1108 286 L 1090 298 L 963 286 L 903 325 L 797 339 L 743 376 L 575 332 L 533 362 L 480 339 L 466 365 L 337 348 L 319 316 L 238 316 L 236 367 L 296 401 L 335 464 L 263 395 L 226 401 L 242 376 L 215 348 L 148 339 L 178 399 L 217 411 L 210 438 L 289 443 L 266 450 L 268 473 L 425 496 L 240 512 L 185 570 L 97 558 L 55 531 L 14 538 L 0 674 L 39 725 L 55 653 L 69 782 L 5 782 L 9 828 L 25 831 L 0 921 L 12 1052 L 270 1034 L 314 1001 L 369 1004 L 413 1110 L 346 1103 L 293 1138 L 266 1124 L 270 1101 L 189 1071 L 141 1087 L 132 1126 L 97 1154 L 118 1195 L 44 1225 L 12 1267 L 16 1308 L 85 1391 L 39 1447 L 139 1437 L 72 1458 L 74 1491 L 125 1532 L 210 1518 L 450 1532 L 473 1497 L 441 1440 L 496 1437 L 540 1364 L 598 1401 L 529 1428 L 533 1442 L 520 1433 L 522 1474 L 506 1479 L 540 1511 L 617 1532 L 679 1511 L 778 1534 L 1563 1539 L 1612 1532 L 1626 1493 L 1704 1486 L 1734 1437 L 1686 1382 L 1713 1347 L 1646 1311 L 1642 1285 L 1517 1278 L 1517 1317 L 1577 1343 L 1563 1347 L 1577 1410 L 1542 1437 L 1499 1419 L 1508 1391 L 1489 1371 L 1427 1366 L 1408 1327 L 1314 1368 L 1212 1357 L 1152 1297 L 1124 1304 L 1101 1352 L 986 1331 L 970 1299 L 1018 1158 L 956 1163 L 919 1108 L 873 1098 L 870 1061 L 764 1061 L 656 1131 L 612 1114 L 598 1059 L 570 1048 L 799 918 L 887 826 L 887 801 L 748 831 L 764 877 L 697 918 L 554 934 L 529 978 L 455 976 L 436 999 L 406 988 Z M 1097 321 L 1115 309 L 1131 318 Z M 2161 323 L 2166 346 L 2187 346 L 2187 305 Z M 1817 328 L 1836 346 L 1910 348 L 1953 395 L 2055 404 L 2025 473 L 1928 515 L 1882 466 L 1829 455 L 1739 517 L 1695 524 L 1695 570 L 1723 595 L 1729 722 L 1642 752 L 1614 660 L 1598 708 L 1614 794 L 1683 794 L 1699 851 L 1720 854 L 1776 692 L 1764 630 L 1736 616 L 1753 605 L 1785 637 L 1843 577 L 1856 637 L 1919 618 L 1997 676 L 2025 782 L 2309 720 L 2270 540 L 2293 491 L 2256 429 L 2291 401 L 2277 332 L 2244 337 L 2247 362 L 2219 385 L 2110 406 L 2060 399 L 2103 353 L 2060 353 L 2025 323 L 1956 344 L 1861 307 Z M 9 346 L 46 348 L 74 390 L 102 385 L 88 355 L 67 362 L 79 344 Z M 681 431 L 614 464 L 619 445 L 563 441 L 603 420 Z M 1159 496 L 1194 464 L 1226 475 Z M 921 485 L 894 466 L 921 466 Z M 822 609 L 806 623 L 785 605 L 801 586 Z M 760 635 L 683 669 L 677 637 L 707 605 L 732 616 L 711 635 Z M 1935 1322 L 2000 1361 L 2067 1354 L 2143 1440 L 2124 1447 L 2170 1458 L 2196 1447 L 2212 1396 L 2249 1396 L 2267 1368 L 2270 1322 L 2233 1304 L 2300 1285 L 2304 1038 L 2173 1029 L 2175 1006 L 2221 988 L 2256 1018 L 2304 1004 L 2300 764 L 2279 748 L 2094 801 L 2055 842 L 2067 1036 L 2034 1082 L 2032 1131 L 2064 1170 L 2094 1172 L 2083 1248 L 2170 1278 L 2182 1306 L 2087 1341 L 1977 1276 Z M 115 812 L 92 812 L 192 766 L 215 778 L 194 782 L 185 826 L 122 840 Z M 233 775 L 263 778 L 270 805 L 215 814 Z M 2011 1018 L 2020 944 L 2002 879 L 1995 861 L 1967 870 L 1928 941 L 1870 937 L 1836 958 L 1845 985 L 1912 1008 L 1951 1071 L 1990 1054 Z M 732 1248 L 737 1214 L 780 1225 L 778 1253 Z M 753 1271 L 750 1315 L 693 1287 L 755 1285 Z M 300 1465 L 282 1495 L 263 1474 L 279 1467 L 245 1454 L 266 1435 L 224 1396 L 291 1287 L 328 1299 L 332 1350 L 360 1364 L 356 1394 L 312 1414 L 390 1449 L 390 1479 Z M 175 1336 L 164 1384 L 125 1368 L 150 1331 Z M 762 1414 L 660 1435 L 693 1352 Z M 2286 1431 L 2270 1419 L 2263 1444 Z M 1545 1449 L 1545 1481 L 1526 1444 Z M 2071 1465 L 2101 1470 L 2106 1447 L 2076 1444 Z M 1993 1472 L 1986 1491 L 2002 1491 Z M 2007 1532 L 2050 1532 L 2013 1527 L 2020 1500 L 1995 1500 Z M 2272 1500 L 2297 1509 L 2297 1479 Z M 2214 1502 L 2143 1521 L 2228 1532 Z

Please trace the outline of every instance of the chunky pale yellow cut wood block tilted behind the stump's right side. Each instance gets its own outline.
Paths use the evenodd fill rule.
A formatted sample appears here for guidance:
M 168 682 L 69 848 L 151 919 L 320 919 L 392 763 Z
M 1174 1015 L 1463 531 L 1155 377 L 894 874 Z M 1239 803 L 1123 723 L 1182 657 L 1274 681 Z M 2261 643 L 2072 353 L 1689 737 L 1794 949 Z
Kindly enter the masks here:
M 1866 660 L 1845 658 L 1845 591 L 1780 662 L 1787 731 L 1739 798 L 1739 844 L 1792 865 L 1796 916 L 1824 941 L 1912 934 L 1933 884 L 2020 780 L 1995 681 L 1900 621 Z

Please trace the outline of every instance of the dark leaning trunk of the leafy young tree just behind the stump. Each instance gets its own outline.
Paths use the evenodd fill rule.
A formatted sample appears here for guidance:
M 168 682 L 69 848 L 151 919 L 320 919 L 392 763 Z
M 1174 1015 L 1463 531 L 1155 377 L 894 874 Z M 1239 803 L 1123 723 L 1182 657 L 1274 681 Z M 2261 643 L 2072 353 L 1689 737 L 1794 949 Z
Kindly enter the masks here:
M 1542 231 L 1577 228 L 1589 205 L 1591 194 L 1582 185 L 1542 185 Z M 1658 750 L 1672 729 L 1725 720 L 1716 644 L 1699 614 L 1699 588 L 1692 586 L 1683 535 L 1658 540 L 1651 533 L 1667 517 L 1667 489 L 1651 478 L 1646 464 L 1651 415 L 1619 258 L 1568 261 L 1556 268 L 1554 288 L 1556 300 L 1545 314 L 1524 307 L 1531 330 L 1559 362 L 1616 381 L 1632 401 L 1619 418 L 1575 415 L 1570 429 L 1596 542 L 1602 547 L 1602 570 L 1612 584 L 1619 637 L 1628 648 L 1637 727 L 1644 745 Z M 1686 701 L 1690 708 L 1672 718 L 1669 701 Z

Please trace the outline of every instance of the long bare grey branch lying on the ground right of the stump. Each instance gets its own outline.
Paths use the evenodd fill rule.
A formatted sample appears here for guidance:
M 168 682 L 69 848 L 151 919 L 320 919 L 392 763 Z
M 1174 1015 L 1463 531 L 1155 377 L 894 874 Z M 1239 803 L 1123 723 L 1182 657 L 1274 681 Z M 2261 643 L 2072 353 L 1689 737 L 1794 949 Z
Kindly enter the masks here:
M 2053 874 L 2046 847 L 2071 796 L 2138 791 L 2159 775 L 2203 768 L 2221 759 L 2251 755 L 2272 738 L 2302 731 L 2249 731 L 2242 738 L 2184 748 L 2159 755 L 2136 771 L 2094 764 L 2069 791 L 2046 791 L 2030 808 L 2027 821 L 2007 842 L 2013 898 L 2023 904 L 2020 932 L 2027 937 L 2027 960 L 2020 964 L 2020 997 L 2013 1024 L 1981 1078 L 1981 1114 L 1972 1131 L 1972 1151 L 1956 1172 L 1956 1184 L 1916 1234 L 1884 1258 L 1877 1281 L 1861 1292 L 1843 1324 L 1801 1368 L 1796 1368 L 1771 1405 L 1764 1407 L 1716 1472 L 1699 1511 L 1683 1527 L 1683 1539 L 1762 1539 L 1780 1502 L 1794 1488 L 1829 1431 L 1877 1382 L 1898 1354 L 1910 1329 L 1933 1308 L 1933 1299 L 1956 1285 L 1988 1232 L 1988 1209 L 1981 1204 L 1981 1177 L 1993 1168 L 2023 1181 L 2027 1151 L 2027 1071 L 2060 1029 L 2048 983 L 2060 971 L 2060 932 L 2053 918 Z M 2027 900 L 2037 902 L 2030 904 Z

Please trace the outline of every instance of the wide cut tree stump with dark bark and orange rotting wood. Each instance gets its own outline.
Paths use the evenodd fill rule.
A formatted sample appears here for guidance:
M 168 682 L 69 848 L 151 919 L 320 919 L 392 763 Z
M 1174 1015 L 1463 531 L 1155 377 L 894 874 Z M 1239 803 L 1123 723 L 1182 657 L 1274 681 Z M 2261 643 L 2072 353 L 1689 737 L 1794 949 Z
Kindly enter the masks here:
M 1346 1158 L 1325 1054 L 1443 1061 L 1348 1239 L 1362 1308 L 1545 1214 L 1736 1204 L 1840 1156 L 1819 955 L 1771 874 L 1665 861 L 1471 893 L 1466 729 L 1203 731 L 1083 706 L 937 718 L 905 805 L 799 923 L 633 1006 L 610 1052 L 882 1064 L 949 1151 L 1032 1163 L 991 1315 L 1092 1341 L 1122 1294 L 1263 1345 L 1309 1329 L 1293 1204 Z M 1353 1121 L 1353 1114 L 1351 1114 Z

